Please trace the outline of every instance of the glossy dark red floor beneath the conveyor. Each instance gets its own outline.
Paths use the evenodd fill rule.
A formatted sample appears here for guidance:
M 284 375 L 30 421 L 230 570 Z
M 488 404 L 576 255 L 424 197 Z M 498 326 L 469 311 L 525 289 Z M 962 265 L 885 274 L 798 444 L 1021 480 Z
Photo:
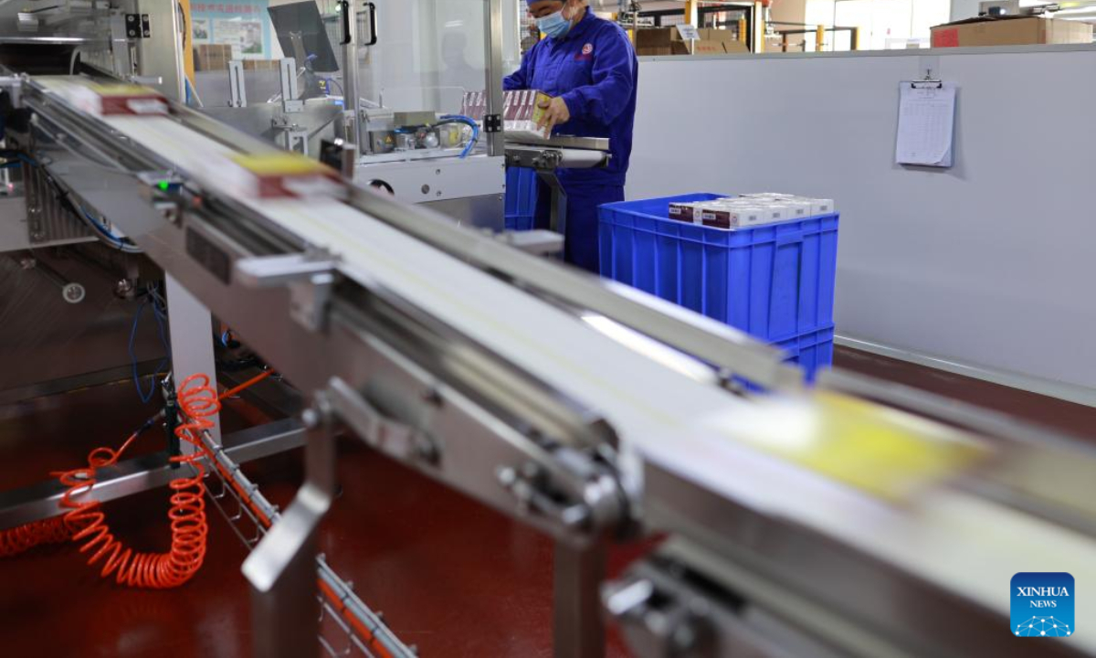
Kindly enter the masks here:
M 838 351 L 845 367 L 1001 408 L 1087 435 L 1096 409 L 901 362 Z M 113 445 L 141 423 L 126 386 L 0 408 L 0 489 L 69 467 L 94 445 Z M 228 430 L 242 421 L 226 413 Z M 158 450 L 162 436 L 142 439 Z M 285 504 L 300 455 L 249 465 L 267 497 Z M 331 566 L 422 656 L 551 655 L 551 544 L 532 530 L 364 449 L 342 443 L 343 496 L 322 534 Z M 164 549 L 167 492 L 109 503 L 112 527 L 132 545 Z M 173 591 L 122 589 L 82 564 L 73 546 L 0 559 L 0 655 L 250 656 L 246 549 L 210 510 L 205 567 Z M 619 570 L 637 551 L 617 552 Z M 627 656 L 610 636 L 610 656 Z

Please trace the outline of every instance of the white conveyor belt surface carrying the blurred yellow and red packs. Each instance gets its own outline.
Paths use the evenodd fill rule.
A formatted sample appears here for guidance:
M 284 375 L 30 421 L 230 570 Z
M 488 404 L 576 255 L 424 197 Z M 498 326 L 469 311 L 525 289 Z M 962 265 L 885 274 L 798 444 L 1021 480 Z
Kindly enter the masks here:
M 104 121 L 218 188 L 208 163 L 226 147 L 165 118 Z M 640 485 L 641 456 L 729 499 L 860 547 L 1005 616 L 1004 592 L 1016 571 L 1066 570 L 1078 583 L 1096 582 L 1096 545 L 1078 533 L 951 490 L 895 506 L 837 481 L 833 474 L 812 472 L 811 450 L 824 450 L 832 439 L 825 435 L 827 419 L 845 412 L 825 400 L 755 402 L 729 396 L 637 356 L 583 320 L 342 203 L 248 203 L 338 254 L 346 276 L 412 300 L 597 409 L 632 451 L 625 467 L 633 488 Z M 770 406 L 776 404 L 783 406 Z M 886 432 L 950 440 L 937 426 L 911 428 L 904 418 L 864 412 L 858 431 L 868 439 Z M 765 431 L 774 422 L 779 431 Z M 806 452 L 779 445 L 780 436 L 795 438 Z M 1096 600 L 1082 597 L 1076 604 L 1080 619 L 1096 619 Z M 1096 651 L 1096 634 L 1078 634 L 1071 642 Z

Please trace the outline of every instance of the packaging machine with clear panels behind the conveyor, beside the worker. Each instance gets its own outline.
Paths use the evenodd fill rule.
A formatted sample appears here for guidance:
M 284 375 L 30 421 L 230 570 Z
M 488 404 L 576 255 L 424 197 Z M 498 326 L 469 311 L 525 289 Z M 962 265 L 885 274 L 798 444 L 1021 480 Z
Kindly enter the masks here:
M 203 112 L 283 148 L 322 157 L 400 201 L 493 230 L 503 228 L 504 169 L 533 167 L 539 158 L 557 197 L 553 224 L 564 226 L 563 191 L 553 172 L 604 166 L 605 140 L 504 140 L 501 122 L 469 121 L 463 103 L 471 92 L 490 95 L 502 114 L 503 71 L 518 59 L 513 31 L 504 29 L 516 25 L 515 3 L 380 0 L 361 12 L 355 3 L 324 5 L 332 13 L 316 7 L 304 1 L 272 10 L 282 15 L 275 24 L 279 42 L 292 48 L 279 63 L 276 94 L 256 102 L 248 90 L 263 89 L 269 73 L 233 60 L 227 72 L 198 73 Z M 441 47 L 409 34 L 436 35 Z M 302 35 L 324 56 L 308 50 Z M 336 70 L 312 71 L 311 63 L 330 59 L 332 47 L 338 61 L 322 68 Z M 336 91 L 320 91 L 318 79 Z

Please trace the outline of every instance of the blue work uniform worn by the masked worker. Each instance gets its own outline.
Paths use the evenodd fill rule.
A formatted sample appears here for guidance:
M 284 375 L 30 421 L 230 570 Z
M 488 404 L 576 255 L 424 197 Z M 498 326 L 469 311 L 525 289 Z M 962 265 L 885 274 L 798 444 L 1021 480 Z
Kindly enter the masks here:
M 605 169 L 560 169 L 567 192 L 567 261 L 597 272 L 597 206 L 624 201 L 631 156 L 639 61 L 628 35 L 592 11 L 559 38 L 545 38 L 522 58 L 503 89 L 536 89 L 567 103 L 571 120 L 553 134 L 608 137 L 613 158 Z M 540 184 L 537 226 L 548 226 L 551 200 Z

